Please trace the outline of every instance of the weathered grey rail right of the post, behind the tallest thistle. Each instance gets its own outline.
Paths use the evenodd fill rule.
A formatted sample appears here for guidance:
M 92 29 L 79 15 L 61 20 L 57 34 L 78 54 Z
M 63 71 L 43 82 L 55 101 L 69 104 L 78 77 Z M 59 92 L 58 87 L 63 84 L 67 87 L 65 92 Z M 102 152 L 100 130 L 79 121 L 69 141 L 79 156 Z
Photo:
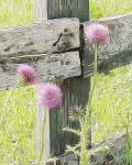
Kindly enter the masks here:
M 103 63 L 106 59 L 108 62 L 113 62 L 111 65 L 120 65 L 125 64 L 125 53 L 132 52 L 132 14 L 127 14 L 122 16 L 114 16 L 95 21 L 96 23 L 103 23 L 108 25 L 110 30 L 110 38 L 105 45 L 101 45 L 98 51 L 98 62 Z M 84 29 L 89 25 L 91 22 L 85 22 Z M 82 75 L 84 77 L 89 76 L 92 73 L 94 66 L 94 50 L 90 43 L 87 41 L 84 43 L 84 53 L 81 54 L 82 58 Z M 123 55 L 122 55 L 123 54 Z M 113 61 L 116 56 L 121 58 L 122 61 Z M 123 57 L 124 56 L 124 57 Z M 130 57 L 130 59 L 132 59 Z M 131 61 L 128 61 L 131 63 Z M 112 68 L 112 67 L 111 67 Z

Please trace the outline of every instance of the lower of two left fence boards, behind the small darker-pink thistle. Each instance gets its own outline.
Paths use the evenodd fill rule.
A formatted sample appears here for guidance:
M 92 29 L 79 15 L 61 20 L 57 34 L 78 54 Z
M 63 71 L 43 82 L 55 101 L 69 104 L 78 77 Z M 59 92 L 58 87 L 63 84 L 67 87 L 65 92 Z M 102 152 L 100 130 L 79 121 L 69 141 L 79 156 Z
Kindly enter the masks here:
M 0 90 L 8 89 L 15 82 L 16 67 L 23 63 L 33 66 L 38 84 L 81 75 L 79 52 L 0 58 Z

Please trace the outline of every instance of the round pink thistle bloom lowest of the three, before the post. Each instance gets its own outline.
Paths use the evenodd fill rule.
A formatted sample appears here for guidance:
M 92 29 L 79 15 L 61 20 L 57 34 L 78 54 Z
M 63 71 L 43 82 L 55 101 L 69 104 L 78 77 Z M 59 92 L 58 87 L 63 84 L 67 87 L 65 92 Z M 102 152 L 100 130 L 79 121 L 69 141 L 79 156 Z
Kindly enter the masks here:
M 59 106 L 62 102 L 61 88 L 54 84 L 45 84 L 38 92 L 38 101 L 48 109 Z

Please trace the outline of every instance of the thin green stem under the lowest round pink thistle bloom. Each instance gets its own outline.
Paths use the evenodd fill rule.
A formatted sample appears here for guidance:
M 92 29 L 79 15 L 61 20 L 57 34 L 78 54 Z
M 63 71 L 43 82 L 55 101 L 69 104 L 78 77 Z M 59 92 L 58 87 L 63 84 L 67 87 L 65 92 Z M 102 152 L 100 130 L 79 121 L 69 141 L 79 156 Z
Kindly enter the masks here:
M 44 155 L 44 133 L 45 133 L 45 124 L 46 124 L 46 109 L 44 109 L 44 118 L 43 118 L 43 123 L 42 123 L 42 146 L 41 146 L 41 151 L 40 151 L 40 155 L 38 155 L 38 161 L 37 161 L 37 165 L 41 165 L 43 155 Z

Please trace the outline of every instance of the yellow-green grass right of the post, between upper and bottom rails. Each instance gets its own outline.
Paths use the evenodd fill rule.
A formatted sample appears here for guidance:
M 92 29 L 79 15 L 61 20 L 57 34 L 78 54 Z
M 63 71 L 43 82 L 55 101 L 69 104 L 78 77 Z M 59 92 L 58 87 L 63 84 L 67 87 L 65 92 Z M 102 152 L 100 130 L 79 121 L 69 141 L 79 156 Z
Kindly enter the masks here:
M 95 141 L 100 141 L 118 130 L 124 130 L 128 112 L 131 112 L 132 108 L 131 100 L 132 65 L 116 68 L 109 75 L 98 75 L 92 105 L 97 117 L 95 119 L 95 123 L 97 123 Z M 132 127 L 132 122 L 130 127 Z

